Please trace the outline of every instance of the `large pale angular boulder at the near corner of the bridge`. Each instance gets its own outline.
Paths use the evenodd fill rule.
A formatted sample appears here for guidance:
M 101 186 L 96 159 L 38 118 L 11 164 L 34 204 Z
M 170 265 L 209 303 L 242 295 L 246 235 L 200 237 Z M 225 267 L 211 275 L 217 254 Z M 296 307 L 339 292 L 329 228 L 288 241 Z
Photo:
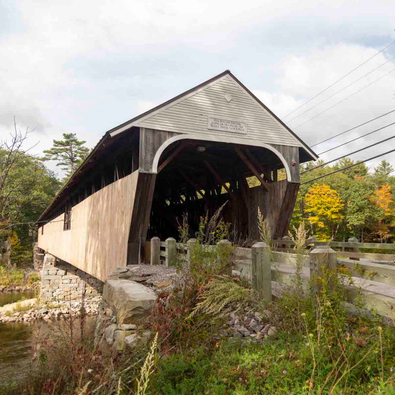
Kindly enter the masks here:
M 103 287 L 103 299 L 117 311 L 118 325 L 122 325 L 149 316 L 157 295 L 138 282 L 119 278 L 107 280 Z

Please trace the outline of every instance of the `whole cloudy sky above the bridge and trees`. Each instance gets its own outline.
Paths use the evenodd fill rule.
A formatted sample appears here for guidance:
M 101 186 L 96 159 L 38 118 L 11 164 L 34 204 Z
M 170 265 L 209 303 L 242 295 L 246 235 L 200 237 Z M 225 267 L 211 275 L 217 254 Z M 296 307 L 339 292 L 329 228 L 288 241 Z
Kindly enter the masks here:
M 0 139 L 15 117 L 34 130 L 33 154 L 69 132 L 93 148 L 107 130 L 229 69 L 313 145 L 395 110 L 394 43 L 287 117 L 394 41 L 394 15 L 393 0 L 0 0 Z M 313 149 L 392 122 L 395 112 Z M 395 125 L 320 158 L 394 134 Z M 395 139 L 351 158 L 391 149 Z M 383 158 L 395 167 L 395 153 Z

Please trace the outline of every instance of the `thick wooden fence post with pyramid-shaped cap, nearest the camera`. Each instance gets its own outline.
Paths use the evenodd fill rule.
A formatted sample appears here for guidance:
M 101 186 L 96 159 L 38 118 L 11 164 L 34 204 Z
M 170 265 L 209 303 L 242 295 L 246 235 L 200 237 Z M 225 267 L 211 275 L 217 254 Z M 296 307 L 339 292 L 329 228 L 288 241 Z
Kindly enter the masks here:
M 336 276 L 337 253 L 327 245 L 317 245 L 310 251 L 310 280 L 315 284 L 316 291 L 322 288 L 322 283 L 317 277 L 322 277 L 322 269 L 330 271 L 329 276 Z M 332 288 L 333 283 L 329 278 L 329 287 Z

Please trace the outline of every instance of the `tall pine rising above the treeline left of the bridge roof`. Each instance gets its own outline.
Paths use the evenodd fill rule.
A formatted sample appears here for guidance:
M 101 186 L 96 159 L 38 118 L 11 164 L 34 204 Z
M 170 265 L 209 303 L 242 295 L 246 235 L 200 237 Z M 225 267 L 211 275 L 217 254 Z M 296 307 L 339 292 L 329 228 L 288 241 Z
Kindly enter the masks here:
M 53 140 L 52 148 L 44 151 L 42 159 L 56 160 L 56 166 L 62 166 L 68 179 L 89 154 L 89 148 L 83 146 L 85 143 L 78 140 L 76 133 L 63 133 L 63 140 Z

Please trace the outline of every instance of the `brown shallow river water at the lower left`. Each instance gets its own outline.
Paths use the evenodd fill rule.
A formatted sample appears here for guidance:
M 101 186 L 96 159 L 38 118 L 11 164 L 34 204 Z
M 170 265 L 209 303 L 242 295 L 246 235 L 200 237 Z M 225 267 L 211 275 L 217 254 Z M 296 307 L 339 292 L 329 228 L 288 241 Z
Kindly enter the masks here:
M 34 298 L 35 291 L 0 293 L 0 306 L 21 298 Z M 87 326 L 93 330 L 95 317 L 87 317 Z M 0 323 L 0 394 L 1 387 L 20 381 L 28 372 L 32 345 L 48 334 L 50 322 Z M 88 329 L 88 330 L 89 330 Z

